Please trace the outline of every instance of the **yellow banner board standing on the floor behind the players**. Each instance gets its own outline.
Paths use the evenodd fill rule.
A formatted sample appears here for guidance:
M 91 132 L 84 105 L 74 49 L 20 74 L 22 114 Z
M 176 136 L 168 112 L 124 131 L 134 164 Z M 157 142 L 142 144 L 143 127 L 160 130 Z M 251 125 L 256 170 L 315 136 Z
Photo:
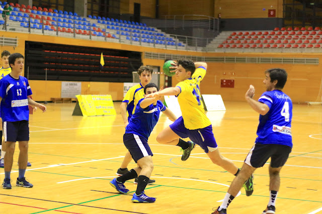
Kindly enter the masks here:
M 83 116 L 116 115 L 111 95 L 76 95 Z

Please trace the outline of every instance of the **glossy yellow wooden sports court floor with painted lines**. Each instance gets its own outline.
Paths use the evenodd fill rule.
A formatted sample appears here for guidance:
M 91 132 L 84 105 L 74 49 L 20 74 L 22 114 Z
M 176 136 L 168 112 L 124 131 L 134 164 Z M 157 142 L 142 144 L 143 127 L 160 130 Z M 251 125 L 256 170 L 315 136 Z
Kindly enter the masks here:
M 177 146 L 156 142 L 171 121 L 160 116 L 149 144 L 154 153 L 152 179 L 145 193 L 155 203 L 132 203 L 136 185 L 126 182 L 128 195 L 109 185 L 126 148 L 120 102 L 117 116 L 71 116 L 75 103 L 47 104 L 47 112 L 30 118 L 26 172 L 33 188 L 17 187 L 18 146 L 11 174 L 12 189 L 0 188 L 0 213 L 208 213 L 221 204 L 233 175 L 214 165 L 200 147 L 181 161 Z M 254 144 L 259 115 L 246 102 L 225 102 L 225 112 L 207 112 L 220 152 L 241 167 Z M 276 213 L 322 213 L 322 106 L 294 105 L 293 151 L 281 171 Z M 135 167 L 134 161 L 129 168 Z M 4 171 L 0 171 L 4 179 Z M 245 190 L 228 213 L 262 213 L 269 200 L 268 164 L 255 171 L 255 191 Z

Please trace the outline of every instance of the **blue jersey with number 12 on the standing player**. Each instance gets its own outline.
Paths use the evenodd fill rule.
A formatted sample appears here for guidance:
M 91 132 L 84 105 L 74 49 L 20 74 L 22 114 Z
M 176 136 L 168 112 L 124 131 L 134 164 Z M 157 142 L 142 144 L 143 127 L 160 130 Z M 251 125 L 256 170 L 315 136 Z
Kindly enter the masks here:
M 0 80 L 1 117 L 3 121 L 29 120 L 28 96 L 32 95 L 27 78 L 10 75 Z

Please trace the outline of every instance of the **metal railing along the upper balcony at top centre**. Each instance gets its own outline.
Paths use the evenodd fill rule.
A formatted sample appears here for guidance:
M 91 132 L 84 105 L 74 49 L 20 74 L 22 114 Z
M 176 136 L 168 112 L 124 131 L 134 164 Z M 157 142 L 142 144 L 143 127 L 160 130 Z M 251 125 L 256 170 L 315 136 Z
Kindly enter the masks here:
M 219 19 L 204 15 L 165 15 L 166 28 L 204 28 L 219 31 Z

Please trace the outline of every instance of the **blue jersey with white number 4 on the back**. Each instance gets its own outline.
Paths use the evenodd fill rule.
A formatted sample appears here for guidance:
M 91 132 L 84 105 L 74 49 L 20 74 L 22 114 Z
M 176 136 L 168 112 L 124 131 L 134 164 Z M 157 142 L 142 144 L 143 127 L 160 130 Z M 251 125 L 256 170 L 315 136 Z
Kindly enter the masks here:
M 291 98 L 280 90 L 267 91 L 258 99 L 268 105 L 266 115 L 260 115 L 256 143 L 280 144 L 292 147 L 292 109 Z

